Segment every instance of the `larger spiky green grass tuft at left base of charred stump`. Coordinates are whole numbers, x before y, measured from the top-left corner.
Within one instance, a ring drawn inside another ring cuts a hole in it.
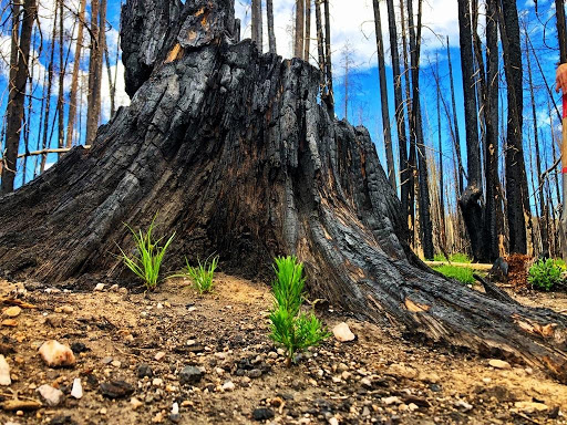
[[[128,225],[124,224],[126,228],[132,232],[134,237],[134,241],[136,245],[135,255],[130,257],[127,256],[122,248],[118,247],[122,253],[122,260],[124,265],[134,272],[142,281],[144,286],[148,290],[155,289],[157,286],[157,281],[159,278],[159,268],[162,266],[162,261],[165,256],[165,251],[172,243],[175,232],[167,239],[163,247],[159,246],[159,242],[163,240],[163,237],[154,240],[152,232],[154,230],[155,217],[150,225],[150,228],[144,234],[142,230],[137,232],[132,229]]]

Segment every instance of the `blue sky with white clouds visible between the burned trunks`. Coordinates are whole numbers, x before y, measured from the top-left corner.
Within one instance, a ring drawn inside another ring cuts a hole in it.
[[[65,0],[70,8],[78,8],[78,0]],[[6,6],[7,0],[1,0],[2,7]],[[52,28],[52,15],[51,10],[54,0],[41,0],[40,1],[40,21],[41,28],[44,38],[44,44],[47,44],[45,40],[49,39],[49,34]],[[522,10],[523,20],[528,22],[529,33],[532,37],[532,41],[535,44],[537,54],[542,61],[542,65],[544,68],[544,73],[549,83],[553,83],[554,80],[554,70],[555,62],[558,60],[557,53],[557,40],[555,40],[555,20],[550,19],[554,13],[553,10],[553,1],[551,0],[539,0],[539,17],[536,17],[534,11],[534,4],[532,0],[528,1],[518,1],[518,8]],[[385,4],[381,2],[382,6],[382,28],[384,30],[384,41],[386,44],[386,75],[389,87],[392,87],[392,72],[390,64],[390,50],[388,43],[388,24],[386,24],[386,13],[385,13]],[[118,81],[117,81],[117,104],[118,105],[127,105],[128,99],[124,93],[123,89],[123,66],[122,63],[115,62],[116,54],[116,42],[117,42],[117,31],[120,28],[120,7],[121,2],[116,0],[109,0],[109,25],[107,30],[107,39],[109,39],[109,50],[111,54],[111,71],[112,75],[117,71]],[[292,7],[293,0],[280,0],[275,4],[275,18],[276,18],[276,35],[278,41],[278,53],[284,55],[285,58],[290,56],[290,23],[292,17]],[[241,19],[243,22],[243,37],[249,37],[249,0],[236,0],[236,14]],[[4,13],[6,14],[6,13]],[[6,21],[7,15],[2,17],[2,21]],[[372,1],[371,0],[352,0],[349,2],[331,0],[331,29],[332,29],[332,43],[333,43],[333,65],[334,65],[334,87],[336,87],[336,100],[337,100],[337,115],[339,117],[343,117],[343,71],[342,71],[342,51],[344,45],[349,43],[352,46],[352,55],[354,69],[350,75],[350,81],[352,86],[350,89],[350,103],[349,103],[349,121],[353,124],[363,124],[367,126],[372,135],[374,143],[377,144],[377,148],[379,155],[383,162],[383,139],[382,139],[382,123],[381,123],[381,112],[380,112],[380,94],[379,94],[379,79],[378,79],[378,69],[377,69],[377,56],[375,56],[375,38],[373,32],[373,14],[372,14]],[[315,22],[315,19],[312,20]],[[481,18],[482,21],[482,18]],[[65,31],[68,35],[71,35],[74,31],[76,34],[76,29],[73,28],[73,19],[72,17],[68,17],[65,19]],[[432,68],[429,63],[435,62],[435,55],[439,55],[439,70],[442,81],[442,90],[446,100],[449,99],[449,69],[446,61],[446,51],[444,45],[445,37],[449,35],[451,38],[451,54],[453,59],[453,69],[454,69],[454,77],[455,77],[455,89],[456,89],[456,104],[458,110],[458,122],[461,125],[461,143],[464,145],[464,116],[462,113],[463,105],[463,95],[462,95],[462,83],[461,83],[461,66],[460,66],[460,52],[456,45],[458,38],[458,28],[457,28],[457,15],[456,15],[456,1],[455,0],[430,0],[424,2],[424,15],[423,15],[423,53],[422,53],[422,70],[421,70],[421,87],[422,87],[422,105],[423,108],[423,120],[424,120],[424,129],[425,129],[425,138],[426,143],[432,146],[432,144],[437,143],[437,128],[436,128],[436,87],[434,85],[434,81],[432,79]],[[482,23],[482,22],[481,22]],[[315,27],[315,23],[313,23]],[[3,37],[0,40],[0,52],[3,56],[3,62],[7,60],[7,55],[9,54],[9,37],[7,37],[7,31],[9,30],[9,24],[3,28]],[[315,28],[313,28],[315,33]],[[481,29],[481,31],[483,31]],[[481,37],[483,34],[481,33]],[[39,40],[39,39],[38,39]],[[265,38],[267,40],[267,37]],[[85,39],[85,44],[87,40]],[[39,46],[39,41],[35,43]],[[312,52],[316,52],[315,41],[312,44]],[[86,52],[86,51],[85,51]],[[34,72],[35,75],[39,75],[39,81],[42,81],[42,73],[44,72],[45,65],[48,63],[49,58],[49,49],[44,48],[39,55]],[[70,62],[72,62],[73,53],[70,52]],[[56,52],[55,52],[56,60]],[[315,61],[313,61],[315,62]],[[534,62],[534,61],[533,61]],[[68,69],[71,65],[68,65]],[[115,69],[117,66],[117,69]],[[82,62],[82,70],[84,75],[86,74],[86,61]],[[534,63],[535,68],[535,63]],[[1,107],[6,108],[7,101],[7,69],[6,65],[2,65],[2,70],[0,70],[0,93],[2,93],[1,97]],[[540,131],[546,138],[544,144],[547,144],[547,152],[545,155],[550,162],[550,125],[547,112],[547,101],[549,96],[544,89],[542,75],[537,70],[534,70],[534,80],[536,82],[536,93],[537,93],[537,111],[538,111],[538,125]],[[103,72],[103,116],[102,122],[109,120],[109,108],[110,101],[107,96],[109,90],[109,81],[106,77],[106,70]],[[527,75],[527,74],[526,74]],[[502,77],[503,90],[504,90],[504,77]],[[68,87],[70,84],[66,84]],[[527,86],[527,85],[526,85]],[[56,103],[56,86],[54,90],[54,96],[51,99],[52,102],[52,112],[55,108]],[[35,89],[35,96],[38,99],[42,95],[42,86],[39,85]],[[68,95],[68,93],[65,92]],[[532,116],[530,110],[527,107],[528,102],[528,92],[524,93],[525,95],[525,145],[526,151],[529,149],[530,144],[530,133],[532,131]],[[555,96],[558,101],[559,96]],[[85,97],[84,97],[85,100]],[[390,90],[390,116],[393,124],[393,93]],[[505,104],[503,105],[505,107]],[[41,103],[39,101],[34,101],[32,105],[32,116],[31,116],[31,137],[30,137],[30,151],[34,151],[38,142],[37,133],[39,127],[39,111],[41,108]],[[66,110],[65,110],[66,111]],[[82,108],[82,113],[84,115],[85,107]],[[501,113],[505,113],[503,108]],[[53,120],[53,115],[52,118]],[[65,112],[66,120],[66,112]],[[84,116],[83,116],[84,121]],[[554,126],[557,127],[557,122],[553,123]],[[392,125],[393,128],[395,126]],[[395,131],[394,131],[394,146],[396,145],[395,141]],[[446,118],[444,113],[442,114],[442,142],[443,148],[446,153],[447,164],[445,168],[450,168],[450,160],[452,160],[451,146],[452,142],[450,138],[450,133],[447,129]],[[56,134],[53,135],[51,141],[51,146],[54,147],[56,144]],[[436,147],[435,147],[436,148]],[[23,152],[23,146],[22,149]],[[430,149],[430,152],[434,153],[435,151]],[[464,148],[463,148],[464,152]],[[529,158],[526,155],[526,160]],[[32,159],[33,160],[33,159]],[[56,160],[55,155],[50,155],[49,163]],[[545,165],[545,162],[544,162]],[[28,169],[27,179],[29,180],[33,175],[31,169]],[[450,176],[447,176],[447,179]],[[21,183],[21,177],[19,178]],[[450,183],[450,182],[447,182]]]

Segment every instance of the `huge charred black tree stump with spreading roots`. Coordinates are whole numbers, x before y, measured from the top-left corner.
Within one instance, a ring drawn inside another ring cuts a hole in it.
[[[117,276],[115,243],[132,246],[122,222],[145,227],[158,211],[156,231],[177,232],[172,268],[216,251],[226,271],[257,274],[274,256],[296,253],[309,290],[359,317],[522,357],[567,381],[567,319],[489,298],[421,263],[402,242],[400,203],[368,132],[318,105],[316,68],[235,42],[233,7],[126,2],[132,104],[90,151],[75,147],[1,198],[1,267],[50,282]]]

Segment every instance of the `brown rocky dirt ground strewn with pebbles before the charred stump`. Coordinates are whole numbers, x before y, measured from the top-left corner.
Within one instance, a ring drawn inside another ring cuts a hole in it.
[[[287,369],[267,338],[261,282],[219,276],[205,297],[183,280],[146,296],[94,286],[0,281],[0,383],[7,367],[11,381],[0,386],[2,424],[567,423],[567,386],[539,371],[327,309],[329,328],[347,322],[357,339],[331,338]],[[523,301],[567,308],[561,294]],[[48,366],[39,349],[50,340],[74,364]]]

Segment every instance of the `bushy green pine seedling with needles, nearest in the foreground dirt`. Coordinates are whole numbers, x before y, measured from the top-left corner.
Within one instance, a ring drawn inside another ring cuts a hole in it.
[[[274,309],[269,317],[270,338],[286,349],[286,364],[290,366],[296,352],[318,345],[329,338],[330,333],[313,313],[300,312],[305,300],[303,265],[298,262],[296,257],[279,257],[275,261]]]

